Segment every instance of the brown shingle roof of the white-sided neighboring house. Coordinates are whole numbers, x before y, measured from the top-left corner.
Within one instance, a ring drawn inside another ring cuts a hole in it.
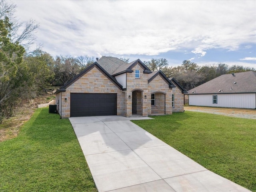
[[[256,93],[256,72],[221,75],[188,91],[188,94],[228,93]]]

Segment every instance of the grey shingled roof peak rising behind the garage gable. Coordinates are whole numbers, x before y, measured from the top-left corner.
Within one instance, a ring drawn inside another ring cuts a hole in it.
[[[102,56],[97,63],[106,70],[110,75],[114,73],[114,71],[120,66],[120,65],[126,65],[127,63],[116,58],[116,57],[106,57]]]

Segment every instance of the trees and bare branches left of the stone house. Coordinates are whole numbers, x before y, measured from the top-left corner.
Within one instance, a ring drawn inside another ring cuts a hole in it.
[[[14,3],[0,0],[0,123],[21,101],[46,92],[51,84],[65,84],[94,62],[89,56],[53,58],[42,45],[31,51],[39,25],[32,19],[20,22],[15,9]]]

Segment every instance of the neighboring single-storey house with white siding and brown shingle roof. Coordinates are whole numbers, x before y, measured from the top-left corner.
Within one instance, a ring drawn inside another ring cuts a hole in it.
[[[225,74],[188,91],[189,105],[256,108],[256,72]]]

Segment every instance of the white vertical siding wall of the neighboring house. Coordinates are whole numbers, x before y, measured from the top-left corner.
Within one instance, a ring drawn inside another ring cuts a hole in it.
[[[212,96],[217,95],[217,104],[212,103]],[[195,106],[256,108],[256,94],[198,94],[189,95],[189,104]]]

